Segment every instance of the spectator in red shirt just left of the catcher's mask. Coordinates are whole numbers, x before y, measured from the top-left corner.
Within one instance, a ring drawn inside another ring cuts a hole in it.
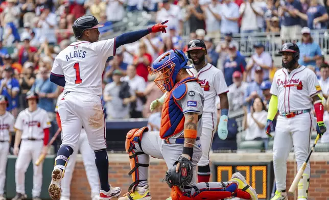
[[[147,82],[149,75],[148,66],[152,63],[152,56],[147,52],[147,46],[144,42],[139,44],[138,54],[134,56],[133,64],[136,66],[137,75],[143,77]]]

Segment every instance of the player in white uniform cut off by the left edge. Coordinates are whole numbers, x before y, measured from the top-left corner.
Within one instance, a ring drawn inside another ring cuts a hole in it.
[[[6,181],[7,156],[9,153],[11,133],[14,132],[15,118],[6,111],[8,99],[0,95],[0,200],[5,200],[4,187]]]

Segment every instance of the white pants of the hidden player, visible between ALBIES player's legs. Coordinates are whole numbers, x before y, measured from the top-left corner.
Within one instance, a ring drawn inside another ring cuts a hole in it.
[[[74,167],[76,165],[78,151],[80,151],[82,155],[83,164],[87,174],[87,180],[91,188],[91,198],[92,198],[93,195],[99,194],[100,184],[99,184],[98,171],[95,164],[95,153],[91,150],[88,144],[87,134],[84,129],[81,130],[78,144],[74,148],[73,154],[69,157],[69,162],[67,163],[67,166],[65,168],[65,176],[62,179],[61,196],[66,198],[70,197],[70,183],[72,180]]]

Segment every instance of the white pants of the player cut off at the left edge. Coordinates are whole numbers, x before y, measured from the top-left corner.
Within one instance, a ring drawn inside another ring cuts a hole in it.
[[[9,142],[0,142],[0,195],[4,194]]]

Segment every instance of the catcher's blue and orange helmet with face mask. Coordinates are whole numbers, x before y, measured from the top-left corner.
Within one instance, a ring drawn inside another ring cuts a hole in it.
[[[159,76],[154,80],[155,84],[162,92],[170,91],[176,82],[178,71],[181,68],[192,68],[186,66],[189,61],[181,50],[172,50],[163,53],[153,62],[153,68],[148,67],[149,73],[152,76],[159,73]]]

